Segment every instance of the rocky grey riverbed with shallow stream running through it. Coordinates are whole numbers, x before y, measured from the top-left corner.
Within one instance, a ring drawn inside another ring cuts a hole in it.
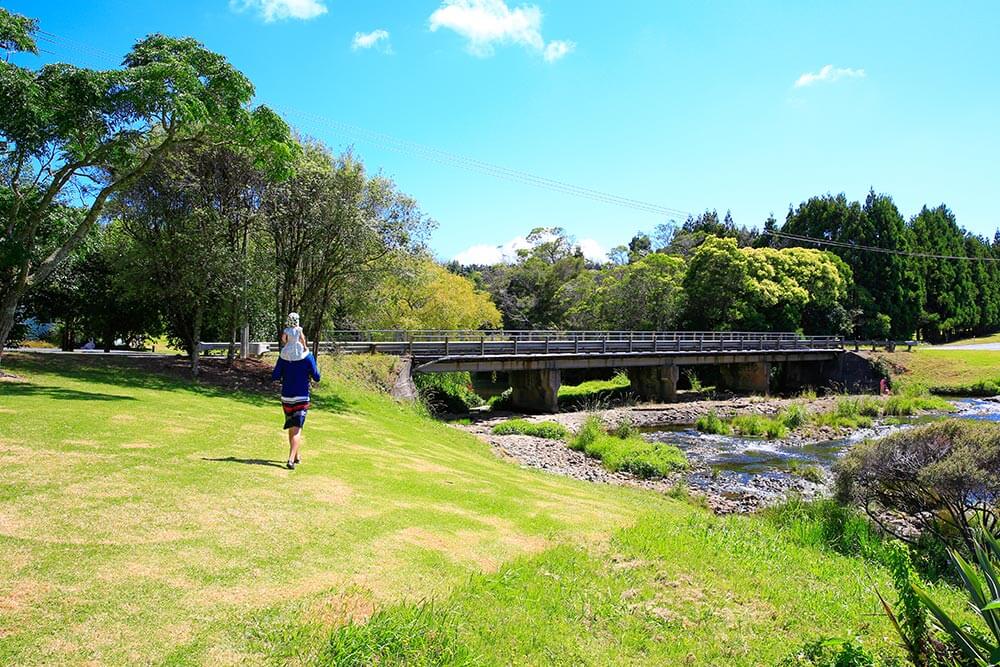
[[[612,473],[596,459],[571,450],[564,442],[524,435],[494,435],[493,426],[514,416],[511,414],[474,416],[470,424],[460,428],[488,442],[498,455],[524,466],[589,482],[635,486],[662,493],[684,486],[689,492],[703,497],[717,513],[741,513],[755,511],[790,496],[811,498],[829,493],[830,470],[845,449],[865,438],[880,437],[907,427],[906,423],[876,424],[873,428],[846,431],[811,426],[781,440],[705,435],[690,427],[699,416],[710,411],[723,418],[736,414],[772,416],[789,404],[803,400],[738,397],[528,417],[534,421],[555,421],[571,430],[578,429],[591,414],[597,414],[608,427],[631,422],[644,431],[647,439],[677,445],[688,457],[691,466],[688,471],[657,480]],[[812,399],[808,407],[813,412],[826,411],[835,407],[836,400],[836,397]],[[1000,420],[1000,402],[996,399],[961,399],[955,405],[956,416]]]

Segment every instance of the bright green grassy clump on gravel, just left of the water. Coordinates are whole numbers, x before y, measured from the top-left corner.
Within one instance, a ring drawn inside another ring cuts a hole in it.
[[[687,458],[677,447],[647,442],[637,435],[616,437],[604,431],[597,417],[587,418],[570,447],[600,459],[612,472],[627,472],[642,479],[664,477],[687,467]]]

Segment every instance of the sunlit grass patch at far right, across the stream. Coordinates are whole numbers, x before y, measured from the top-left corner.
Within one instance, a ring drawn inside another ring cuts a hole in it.
[[[935,391],[956,394],[984,382],[1000,383],[1000,352],[916,348],[913,352],[881,353],[893,366],[905,369],[899,377]]]

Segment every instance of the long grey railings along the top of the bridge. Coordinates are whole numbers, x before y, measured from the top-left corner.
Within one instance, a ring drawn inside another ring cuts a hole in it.
[[[837,336],[759,331],[331,331],[323,351],[417,357],[840,350]]]

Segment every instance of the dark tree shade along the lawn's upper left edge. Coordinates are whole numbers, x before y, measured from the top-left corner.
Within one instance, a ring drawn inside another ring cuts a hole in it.
[[[81,380],[84,382],[95,382],[109,384],[119,387],[129,387],[136,389],[154,389],[158,391],[185,391],[210,398],[228,398],[250,405],[263,407],[280,406],[280,387],[277,383],[266,382],[261,384],[259,377],[247,375],[246,380],[249,387],[225,387],[209,382],[196,381],[190,377],[190,371],[186,369],[186,362],[178,364],[175,359],[150,358],[136,359],[128,357],[98,357],[77,355],[43,355],[30,353],[6,353],[4,354],[4,366],[7,370],[15,371],[19,374],[30,373],[51,373],[62,377]],[[43,387],[32,382],[5,383],[4,393],[14,395],[15,391],[8,392],[9,387],[32,387],[36,395],[44,395],[42,389],[80,394],[79,398],[85,400],[88,397],[100,399],[107,396],[105,400],[119,398],[122,400],[135,400],[128,396],[114,396],[112,394],[89,394],[88,392],[77,392],[72,389],[59,389],[55,387]],[[313,401],[314,410],[324,412],[343,413],[348,412],[351,404],[336,394],[320,392],[318,400]],[[23,390],[22,395],[29,395],[29,390]],[[69,396],[65,396],[69,398]]]

